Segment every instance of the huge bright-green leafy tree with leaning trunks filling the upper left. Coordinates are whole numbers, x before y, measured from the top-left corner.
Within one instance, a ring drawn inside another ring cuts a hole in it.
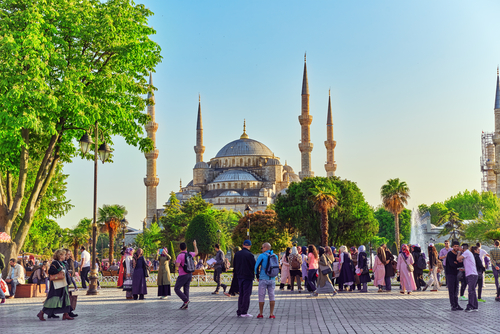
[[[0,232],[13,239],[0,244],[5,257],[17,256],[60,162],[96,122],[108,144],[121,136],[154,148],[143,129],[154,89],[146,77],[161,60],[151,15],[131,1],[0,2]]]

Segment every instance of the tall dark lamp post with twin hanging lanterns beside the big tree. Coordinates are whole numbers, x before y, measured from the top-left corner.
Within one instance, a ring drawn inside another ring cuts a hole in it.
[[[99,148],[97,145],[99,143],[99,124],[95,122],[95,143],[92,142],[92,139],[89,137],[87,133],[83,135],[80,139],[80,149],[83,154],[87,154],[94,144],[94,222],[92,224],[92,256],[90,259],[90,284],[89,289],[87,290],[87,295],[97,295],[97,268],[96,268],[96,236],[97,236],[97,155],[101,159],[102,163],[108,160],[109,155],[111,153],[111,149],[108,144],[103,140],[103,143]]]

